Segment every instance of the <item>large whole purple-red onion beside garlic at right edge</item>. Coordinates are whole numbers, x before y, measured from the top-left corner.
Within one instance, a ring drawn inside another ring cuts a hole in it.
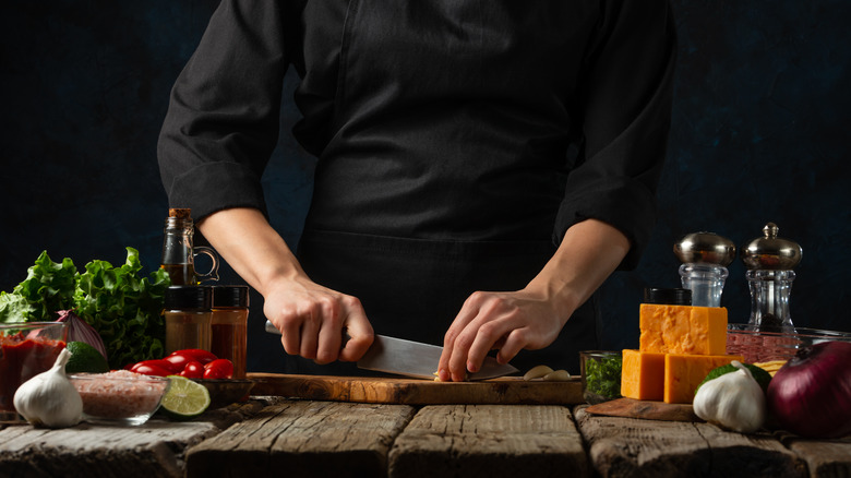
[[[781,428],[801,437],[851,433],[851,343],[799,350],[771,379],[767,403]]]

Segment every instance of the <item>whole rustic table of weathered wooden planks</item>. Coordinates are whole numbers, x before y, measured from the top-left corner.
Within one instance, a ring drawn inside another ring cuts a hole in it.
[[[586,406],[252,397],[194,421],[0,430],[0,477],[849,477],[851,438],[740,434]]]

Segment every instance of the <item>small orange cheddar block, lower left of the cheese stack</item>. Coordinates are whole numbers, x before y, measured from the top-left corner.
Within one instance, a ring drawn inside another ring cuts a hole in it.
[[[661,402],[664,395],[664,354],[625,349],[622,357],[621,395]]]

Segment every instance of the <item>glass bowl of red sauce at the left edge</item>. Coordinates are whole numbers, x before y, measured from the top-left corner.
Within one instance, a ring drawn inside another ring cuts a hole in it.
[[[26,423],[15,410],[15,392],[53,367],[67,338],[64,322],[0,324],[0,423]]]

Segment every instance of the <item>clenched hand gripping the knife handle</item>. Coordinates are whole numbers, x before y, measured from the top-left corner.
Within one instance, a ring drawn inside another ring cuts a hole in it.
[[[356,361],[373,340],[372,325],[357,297],[320,286],[305,277],[268,288],[263,312],[280,331],[290,355],[316,363]],[[343,345],[343,330],[350,337]]]

